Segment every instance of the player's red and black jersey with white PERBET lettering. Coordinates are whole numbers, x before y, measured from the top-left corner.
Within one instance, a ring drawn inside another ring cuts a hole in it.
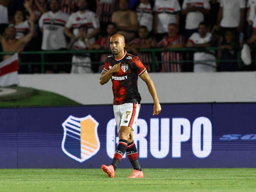
[[[114,94],[113,105],[140,103],[141,95],[138,91],[138,76],[142,75],[146,71],[146,68],[137,56],[131,55],[125,50],[123,57],[118,60],[115,59],[113,54],[108,55],[104,70],[108,71],[120,62],[120,71],[113,73],[111,76]]]

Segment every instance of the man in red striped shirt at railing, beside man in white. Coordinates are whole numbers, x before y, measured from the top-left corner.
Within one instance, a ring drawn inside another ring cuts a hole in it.
[[[178,25],[172,23],[168,25],[168,36],[164,37],[158,43],[158,47],[165,49],[181,48],[184,46],[184,37],[178,35]],[[182,54],[176,51],[163,51],[161,52],[161,72],[181,72],[181,64],[177,63],[182,60]]]

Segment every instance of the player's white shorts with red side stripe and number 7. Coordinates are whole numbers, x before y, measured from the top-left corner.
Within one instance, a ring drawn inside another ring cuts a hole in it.
[[[120,126],[131,127],[134,131],[135,123],[139,116],[141,104],[136,103],[125,103],[122,105],[113,105],[115,122],[117,129]]]

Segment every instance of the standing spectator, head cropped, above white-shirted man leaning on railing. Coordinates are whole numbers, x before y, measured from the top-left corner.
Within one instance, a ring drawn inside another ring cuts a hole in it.
[[[195,32],[199,23],[204,21],[204,14],[210,13],[209,0],[184,0],[182,4],[183,15],[186,15],[185,41]]]

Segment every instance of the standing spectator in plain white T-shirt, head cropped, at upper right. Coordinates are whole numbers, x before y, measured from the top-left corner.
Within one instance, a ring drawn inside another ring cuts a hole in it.
[[[245,13],[245,0],[221,0],[218,14],[218,26],[221,35],[225,31],[232,31],[238,37],[243,29]]]

